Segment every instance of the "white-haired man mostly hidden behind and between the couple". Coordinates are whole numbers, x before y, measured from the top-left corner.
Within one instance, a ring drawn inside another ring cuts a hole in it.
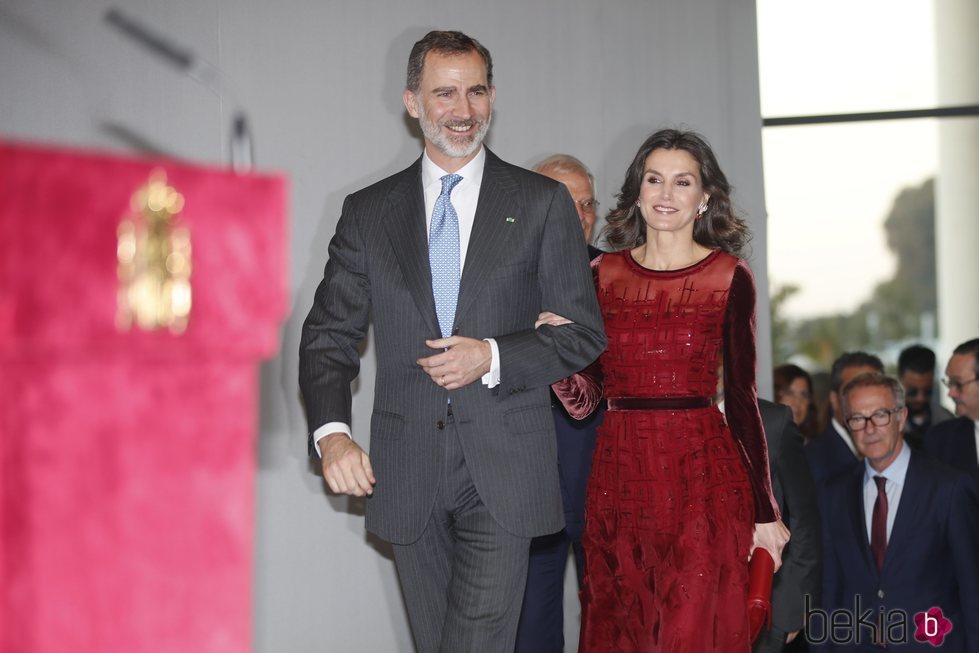
[[[601,250],[591,246],[598,212],[595,178],[584,163],[570,154],[553,154],[534,166],[534,171],[568,187],[578,210],[581,229],[594,259]],[[581,534],[585,524],[585,486],[591,472],[591,456],[598,427],[605,414],[599,407],[583,420],[572,419],[561,402],[552,402],[557,431],[558,471],[565,526],[557,533],[535,537],[530,545],[530,566],[524,591],[515,653],[561,653],[564,650],[564,571],[568,551],[574,551],[578,589],[584,577]]]

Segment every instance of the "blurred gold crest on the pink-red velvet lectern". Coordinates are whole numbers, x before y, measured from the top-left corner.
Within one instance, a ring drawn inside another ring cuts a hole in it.
[[[116,326],[180,334],[190,318],[190,231],[179,224],[184,197],[156,169],[119,223]]]

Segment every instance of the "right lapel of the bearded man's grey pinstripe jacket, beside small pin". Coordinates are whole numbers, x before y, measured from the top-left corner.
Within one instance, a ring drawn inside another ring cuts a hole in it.
[[[479,202],[459,284],[456,323],[472,307],[486,275],[504,259],[510,235],[522,225],[518,189],[503,162],[487,149]]]

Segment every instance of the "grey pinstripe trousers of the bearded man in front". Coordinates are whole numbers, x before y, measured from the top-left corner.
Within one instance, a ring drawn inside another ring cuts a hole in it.
[[[512,653],[530,539],[483,505],[455,422],[446,422],[439,489],[421,538],[394,545],[418,653]]]

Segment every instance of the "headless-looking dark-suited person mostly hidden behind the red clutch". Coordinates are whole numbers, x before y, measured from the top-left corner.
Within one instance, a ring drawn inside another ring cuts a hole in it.
[[[822,535],[816,486],[809,473],[802,433],[792,410],[758,400],[765,437],[772,494],[792,539],[782,552],[782,567],[772,583],[772,627],[755,640],[755,653],[780,653],[805,625],[805,599],[819,603],[822,586]]]

